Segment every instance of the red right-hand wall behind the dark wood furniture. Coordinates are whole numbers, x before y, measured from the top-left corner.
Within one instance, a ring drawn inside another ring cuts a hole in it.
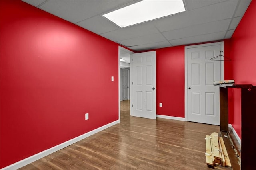
[[[236,83],[256,85],[256,0],[252,0],[230,39],[230,56],[232,57],[232,76]],[[229,107],[230,123],[241,138],[240,89],[229,91],[232,95]],[[255,114],[255,110],[252,111]]]

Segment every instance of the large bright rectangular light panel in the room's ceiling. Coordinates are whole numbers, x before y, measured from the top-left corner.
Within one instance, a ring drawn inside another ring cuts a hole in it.
[[[103,16],[123,28],[183,11],[182,0],[142,0]]]

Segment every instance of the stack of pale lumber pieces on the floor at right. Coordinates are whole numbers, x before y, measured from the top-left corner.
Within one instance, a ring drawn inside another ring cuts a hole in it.
[[[218,137],[217,132],[205,135],[206,143],[206,164],[209,166],[228,166],[231,167],[228,153],[222,137]]]

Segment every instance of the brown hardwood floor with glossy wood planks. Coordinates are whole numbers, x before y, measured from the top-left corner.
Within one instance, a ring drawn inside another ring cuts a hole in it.
[[[219,126],[130,116],[121,102],[121,123],[37,160],[20,170],[208,170],[205,135]],[[215,166],[215,169],[232,168]]]

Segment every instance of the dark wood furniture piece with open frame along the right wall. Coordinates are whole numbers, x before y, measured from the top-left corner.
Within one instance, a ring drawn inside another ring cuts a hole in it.
[[[252,84],[214,84],[220,87],[220,131],[223,136],[233,170],[240,169],[238,150],[228,135],[228,88],[241,89],[241,169],[254,169],[256,152],[256,86]]]

